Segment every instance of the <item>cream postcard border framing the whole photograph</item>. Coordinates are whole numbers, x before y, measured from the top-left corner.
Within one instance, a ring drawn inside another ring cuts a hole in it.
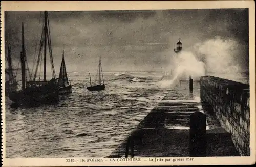
[[[255,4],[254,1],[24,1],[1,2],[1,72],[4,74],[4,12],[5,11],[95,11],[95,10],[157,10],[157,9],[213,9],[213,8],[249,8],[249,70],[250,70],[250,157],[200,157],[193,161],[149,162],[148,158],[141,158],[141,162],[111,162],[112,158],[97,158],[103,162],[77,162],[81,158],[75,158],[75,163],[66,162],[66,158],[3,158],[5,157],[5,100],[2,98],[2,164],[3,166],[116,166],[116,165],[203,165],[203,164],[254,164],[255,155]],[[5,83],[4,75],[1,75]],[[1,84],[5,90],[5,84]],[[5,91],[2,91],[5,97]],[[73,158],[73,157],[72,157]],[[169,157],[168,157],[169,158]],[[172,157],[170,157],[172,158]],[[180,157],[186,159],[186,157]],[[189,157],[187,157],[189,158]],[[147,161],[144,161],[144,160]],[[163,158],[165,159],[165,158]],[[174,158],[172,158],[174,159]]]

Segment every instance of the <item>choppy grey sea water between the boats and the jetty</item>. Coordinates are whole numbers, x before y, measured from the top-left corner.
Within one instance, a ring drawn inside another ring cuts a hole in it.
[[[107,85],[100,92],[86,89],[88,73],[69,78],[72,94],[57,104],[15,110],[6,100],[7,158],[108,156],[169,91],[176,102],[181,91],[160,88],[161,73],[104,73]]]

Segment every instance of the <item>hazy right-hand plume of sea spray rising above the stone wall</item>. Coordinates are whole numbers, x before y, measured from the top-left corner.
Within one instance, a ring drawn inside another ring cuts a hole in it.
[[[237,80],[241,67],[236,58],[243,50],[234,39],[224,39],[220,36],[196,43],[195,54],[205,63],[207,74]]]

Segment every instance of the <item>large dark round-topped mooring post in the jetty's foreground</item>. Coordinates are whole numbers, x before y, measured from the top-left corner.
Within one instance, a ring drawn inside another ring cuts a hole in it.
[[[189,155],[190,157],[206,156],[206,116],[201,112],[190,115]]]

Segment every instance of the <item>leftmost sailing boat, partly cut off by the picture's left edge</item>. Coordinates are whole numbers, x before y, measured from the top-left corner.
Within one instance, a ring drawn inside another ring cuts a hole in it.
[[[17,82],[12,70],[12,60],[11,60],[11,47],[8,46],[8,69],[5,69],[5,95],[8,96],[9,92],[15,92],[17,90]]]

